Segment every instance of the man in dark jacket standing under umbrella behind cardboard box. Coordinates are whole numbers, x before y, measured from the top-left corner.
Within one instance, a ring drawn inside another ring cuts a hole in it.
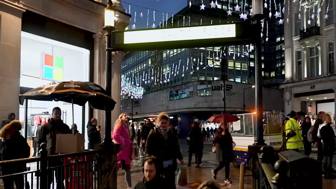
[[[52,109],[52,118],[48,120],[48,123],[44,123],[40,129],[37,130],[37,145],[40,146],[42,143],[47,144],[47,155],[56,154],[56,135],[57,134],[72,134],[70,127],[61,120],[62,111],[59,107]],[[52,160],[48,162],[49,167],[58,167],[50,169],[48,172],[48,189],[53,183],[53,171],[55,171],[55,178],[57,189],[64,189],[64,168],[60,167],[63,165],[61,160]]]

